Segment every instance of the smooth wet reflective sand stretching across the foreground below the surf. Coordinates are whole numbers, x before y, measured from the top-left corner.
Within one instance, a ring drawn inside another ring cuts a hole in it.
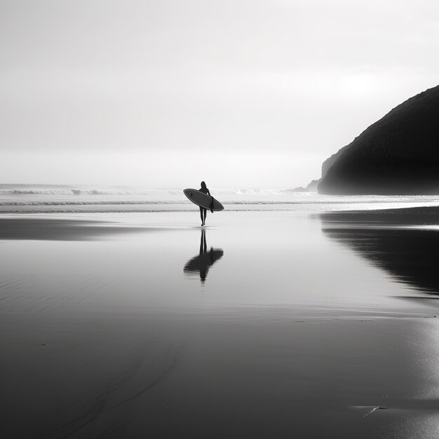
[[[1,436],[438,436],[431,212],[1,218]]]

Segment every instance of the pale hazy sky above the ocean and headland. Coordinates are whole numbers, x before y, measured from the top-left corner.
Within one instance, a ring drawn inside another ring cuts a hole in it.
[[[306,184],[438,48],[437,0],[0,0],[0,180]]]

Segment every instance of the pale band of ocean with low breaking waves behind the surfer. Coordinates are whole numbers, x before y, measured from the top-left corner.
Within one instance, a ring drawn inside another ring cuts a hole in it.
[[[0,184],[2,213],[185,212],[183,187]],[[329,196],[291,189],[210,188],[225,210],[330,212],[439,205],[439,196]]]

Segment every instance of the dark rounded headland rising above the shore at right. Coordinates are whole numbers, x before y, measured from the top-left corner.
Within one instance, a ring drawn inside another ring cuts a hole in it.
[[[322,166],[320,194],[439,194],[439,86],[406,100]]]

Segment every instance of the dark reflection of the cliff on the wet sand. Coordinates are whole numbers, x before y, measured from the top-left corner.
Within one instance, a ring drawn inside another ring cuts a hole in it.
[[[323,233],[389,272],[397,281],[439,295],[437,208],[320,214]],[[430,226],[430,227],[428,227]]]

